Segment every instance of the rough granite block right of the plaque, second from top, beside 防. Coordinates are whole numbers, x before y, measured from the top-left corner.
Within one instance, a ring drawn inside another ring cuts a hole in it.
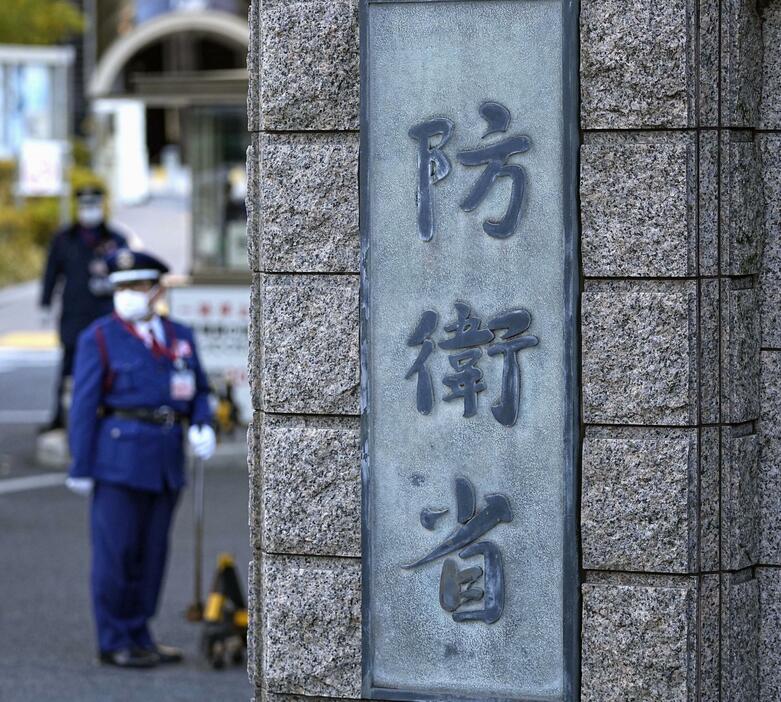
[[[695,142],[690,134],[590,134],[581,147],[583,273],[696,274]]]

